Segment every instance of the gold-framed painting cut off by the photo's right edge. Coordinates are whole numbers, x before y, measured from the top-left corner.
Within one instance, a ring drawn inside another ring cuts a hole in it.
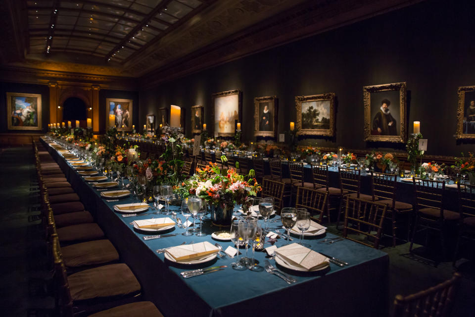
[[[475,139],[475,86],[461,86],[457,89],[456,139]]]

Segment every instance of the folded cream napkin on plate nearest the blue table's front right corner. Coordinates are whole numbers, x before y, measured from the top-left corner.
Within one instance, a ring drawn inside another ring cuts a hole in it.
[[[307,271],[324,268],[330,263],[328,258],[298,243],[280,247],[274,253],[288,264]]]

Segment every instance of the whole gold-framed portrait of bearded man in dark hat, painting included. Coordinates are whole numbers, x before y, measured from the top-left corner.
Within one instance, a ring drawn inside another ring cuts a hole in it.
[[[364,141],[406,142],[406,87],[406,82],[363,87]]]

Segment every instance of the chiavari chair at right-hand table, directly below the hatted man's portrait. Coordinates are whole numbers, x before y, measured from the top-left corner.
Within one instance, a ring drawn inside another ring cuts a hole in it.
[[[410,240],[410,217],[412,205],[396,200],[396,175],[371,172],[371,187],[373,198],[381,204],[388,204],[386,219],[391,221],[392,246],[396,246],[396,231],[399,223],[404,222],[407,226],[407,240]],[[402,219],[401,219],[402,218]]]

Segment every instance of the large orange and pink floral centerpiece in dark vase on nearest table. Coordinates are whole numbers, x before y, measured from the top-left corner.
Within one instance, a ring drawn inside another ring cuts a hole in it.
[[[248,175],[240,175],[235,168],[227,171],[209,162],[204,168],[196,168],[196,173],[182,182],[176,189],[183,198],[196,195],[206,201],[215,225],[231,225],[235,204],[242,205],[250,197],[261,191],[254,178],[254,170]]]

